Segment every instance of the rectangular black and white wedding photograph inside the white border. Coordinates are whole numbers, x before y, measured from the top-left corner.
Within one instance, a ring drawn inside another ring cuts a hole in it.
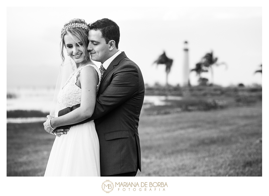
[[[7,7],[6,176],[262,178],[262,11]]]

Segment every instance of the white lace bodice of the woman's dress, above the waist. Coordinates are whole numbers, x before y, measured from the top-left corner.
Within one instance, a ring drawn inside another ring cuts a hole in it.
[[[99,75],[99,83],[96,88],[96,94],[98,93],[99,86],[101,83],[102,75],[97,66],[95,65],[86,65],[93,66]],[[84,66],[84,67],[86,67]],[[63,85],[62,89],[60,89],[57,101],[59,105],[63,108],[72,107],[81,102],[81,88],[76,85],[77,83],[77,75],[83,69],[80,68],[78,71],[74,71],[67,79],[65,85]]]

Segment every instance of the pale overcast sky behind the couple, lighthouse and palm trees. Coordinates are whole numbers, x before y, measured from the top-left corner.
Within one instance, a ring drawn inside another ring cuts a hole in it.
[[[59,73],[60,31],[73,18],[101,18],[120,27],[119,49],[140,67],[145,83],[165,83],[165,66],[152,65],[163,51],[172,58],[168,82],[183,81],[183,43],[189,42],[189,68],[213,50],[219,62],[214,83],[262,83],[254,74],[262,63],[261,7],[8,7],[7,87],[54,86]],[[29,25],[31,24],[31,25]],[[100,63],[96,63],[97,66]],[[203,77],[211,79],[210,73]],[[197,84],[193,72],[190,82]]]

